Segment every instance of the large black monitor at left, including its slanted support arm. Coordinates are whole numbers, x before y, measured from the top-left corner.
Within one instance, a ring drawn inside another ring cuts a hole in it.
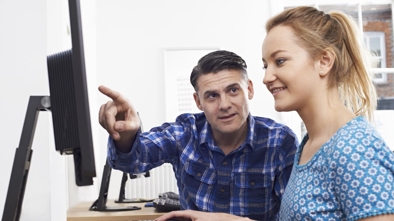
[[[50,97],[30,96],[2,221],[19,220],[40,111],[52,111],[56,150],[74,155],[76,185],[91,185],[96,176],[79,0],[69,0],[69,13],[72,49],[47,57]]]

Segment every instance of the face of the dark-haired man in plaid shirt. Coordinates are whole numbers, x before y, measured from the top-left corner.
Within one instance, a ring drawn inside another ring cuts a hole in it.
[[[203,110],[215,136],[231,135],[247,127],[248,99],[253,98],[253,83],[242,79],[239,70],[221,70],[197,79],[197,107]]]

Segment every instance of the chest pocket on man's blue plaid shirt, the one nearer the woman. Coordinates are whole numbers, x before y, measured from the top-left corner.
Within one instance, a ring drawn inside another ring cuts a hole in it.
[[[244,202],[259,204],[260,208],[268,206],[271,199],[271,174],[234,173],[235,185]]]

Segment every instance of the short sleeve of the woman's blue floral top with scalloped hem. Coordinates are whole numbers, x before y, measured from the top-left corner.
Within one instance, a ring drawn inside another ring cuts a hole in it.
[[[347,219],[392,211],[394,154],[375,127],[357,117],[333,140],[332,153],[326,156],[327,174]]]

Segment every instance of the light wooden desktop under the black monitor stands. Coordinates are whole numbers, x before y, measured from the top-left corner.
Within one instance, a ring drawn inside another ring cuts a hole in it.
[[[157,212],[156,208],[144,207],[146,203],[115,203],[108,200],[107,206],[139,206],[141,210],[118,211],[118,212],[99,212],[90,211],[93,202],[83,202],[69,208],[67,211],[67,221],[130,221],[130,220],[149,220],[165,214]]]

